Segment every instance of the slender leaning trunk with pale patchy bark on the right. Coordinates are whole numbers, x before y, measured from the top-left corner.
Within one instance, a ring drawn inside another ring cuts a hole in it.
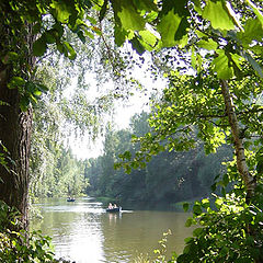
[[[228,121],[229,121],[232,137],[233,137],[233,145],[235,145],[236,157],[237,157],[237,168],[244,182],[244,185],[247,188],[247,203],[249,203],[250,199],[254,196],[256,180],[250,174],[249,168],[247,165],[243,139],[240,136],[240,127],[239,127],[235,105],[232,102],[231,94],[229,92],[227,81],[220,80],[220,84],[221,84],[222,96],[225,100],[226,112],[228,115]]]

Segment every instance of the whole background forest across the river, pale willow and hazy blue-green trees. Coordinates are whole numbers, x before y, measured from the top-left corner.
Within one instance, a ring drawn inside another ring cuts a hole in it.
[[[108,124],[103,155],[88,160],[78,160],[70,148],[66,150],[62,145],[56,146],[56,141],[48,137],[42,165],[34,167],[34,162],[31,162],[32,174],[35,176],[31,184],[32,197],[88,194],[112,198],[121,205],[159,205],[160,208],[176,202],[209,196],[216,175],[226,172],[222,162],[232,158],[228,146],[221,146],[217,152],[206,156],[199,141],[195,149],[188,151],[160,152],[145,168],[133,170],[130,174],[123,169],[114,169],[122,160],[119,156],[139,149],[139,145],[132,144],[132,137],[150,132],[148,117],[146,112],[134,115],[128,129],[114,130]]]

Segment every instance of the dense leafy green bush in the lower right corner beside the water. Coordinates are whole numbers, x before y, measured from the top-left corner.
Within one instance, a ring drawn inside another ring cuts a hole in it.
[[[198,225],[176,262],[254,262],[262,256],[262,192],[258,205],[247,205],[236,194],[215,195],[193,206],[193,218],[185,226]],[[214,208],[216,206],[216,209]],[[187,210],[188,205],[184,205]],[[247,226],[252,225],[253,236]],[[262,260],[262,259],[261,259]]]

